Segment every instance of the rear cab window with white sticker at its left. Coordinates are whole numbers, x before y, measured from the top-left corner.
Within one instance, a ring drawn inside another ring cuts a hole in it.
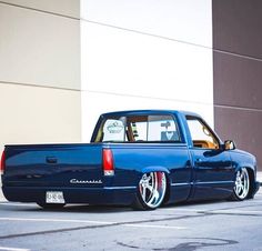
[[[181,138],[172,116],[130,116],[104,119],[95,142],[181,142]]]

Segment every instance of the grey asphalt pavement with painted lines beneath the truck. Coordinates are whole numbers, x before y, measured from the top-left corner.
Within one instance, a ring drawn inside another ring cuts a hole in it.
[[[262,191],[242,202],[210,201],[133,211],[127,207],[0,202],[0,250],[262,251]]]

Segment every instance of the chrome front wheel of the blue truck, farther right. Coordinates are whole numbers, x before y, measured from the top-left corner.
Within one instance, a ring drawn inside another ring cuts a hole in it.
[[[250,178],[246,168],[242,168],[236,172],[234,194],[239,200],[244,200],[250,191]]]

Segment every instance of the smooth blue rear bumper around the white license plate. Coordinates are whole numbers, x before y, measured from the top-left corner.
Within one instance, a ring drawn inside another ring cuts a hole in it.
[[[135,187],[108,188],[36,188],[2,187],[7,200],[16,202],[46,202],[47,191],[62,191],[66,203],[131,204],[137,195]]]

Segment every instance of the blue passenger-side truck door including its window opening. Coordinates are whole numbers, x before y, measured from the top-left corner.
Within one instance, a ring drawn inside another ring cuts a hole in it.
[[[229,152],[209,126],[198,117],[187,117],[192,138],[192,199],[226,198],[234,185],[234,169]]]

